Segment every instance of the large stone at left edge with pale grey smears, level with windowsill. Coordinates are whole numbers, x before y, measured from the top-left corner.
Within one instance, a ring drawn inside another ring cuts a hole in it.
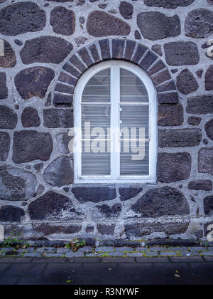
[[[25,201],[35,195],[37,179],[31,172],[9,165],[0,166],[0,199]]]

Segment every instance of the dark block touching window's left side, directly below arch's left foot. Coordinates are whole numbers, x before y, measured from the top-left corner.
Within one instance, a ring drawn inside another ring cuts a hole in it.
[[[73,114],[71,109],[45,109],[43,110],[43,118],[45,127],[73,127]]]

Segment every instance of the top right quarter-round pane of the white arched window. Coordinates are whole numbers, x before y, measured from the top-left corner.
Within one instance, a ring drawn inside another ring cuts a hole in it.
[[[141,79],[121,68],[121,103],[148,102],[148,92]]]

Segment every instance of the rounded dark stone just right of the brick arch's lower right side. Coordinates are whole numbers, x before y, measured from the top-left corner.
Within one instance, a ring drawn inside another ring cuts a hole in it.
[[[182,70],[178,75],[176,85],[183,95],[194,93],[199,88],[197,80],[187,68]]]

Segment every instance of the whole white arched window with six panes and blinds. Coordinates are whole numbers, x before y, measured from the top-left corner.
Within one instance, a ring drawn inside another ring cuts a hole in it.
[[[99,63],[75,89],[75,183],[156,182],[157,100],[137,65]]]

